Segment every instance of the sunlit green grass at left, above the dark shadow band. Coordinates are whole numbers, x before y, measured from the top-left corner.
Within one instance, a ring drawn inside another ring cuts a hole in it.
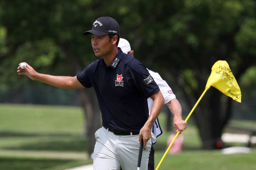
[[[84,121],[79,107],[1,104],[0,129],[27,135],[81,134]]]

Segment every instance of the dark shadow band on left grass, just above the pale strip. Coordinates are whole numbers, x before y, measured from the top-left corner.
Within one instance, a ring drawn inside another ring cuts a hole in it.
[[[9,150],[27,151],[63,151],[63,152],[85,152],[87,142],[84,137],[50,137],[43,141],[26,143],[15,147],[5,147]]]

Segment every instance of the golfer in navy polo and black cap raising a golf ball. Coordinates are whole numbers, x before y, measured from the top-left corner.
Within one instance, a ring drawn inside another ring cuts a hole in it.
[[[76,76],[40,74],[27,63],[24,69],[18,66],[17,72],[63,89],[94,87],[103,124],[95,132],[94,170],[137,169],[142,138],[145,149],[140,169],[147,170],[151,128],[164,103],[159,87],[142,63],[117,47],[120,32],[116,20],[100,17],[84,34],[91,35],[95,56],[101,58]],[[150,114],[149,97],[153,100]]]

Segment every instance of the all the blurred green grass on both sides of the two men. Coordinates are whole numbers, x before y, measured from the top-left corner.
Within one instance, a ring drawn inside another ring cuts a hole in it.
[[[82,135],[84,118],[79,107],[0,104],[0,110],[0,170],[63,170],[92,163],[86,155],[87,141]],[[159,119],[164,130],[165,115]],[[256,128],[255,121],[246,120],[233,120],[230,126]],[[234,132],[230,126],[226,131]],[[155,166],[165,152],[170,135],[171,132],[164,131],[154,145]],[[254,149],[251,153],[231,155],[200,150],[201,141],[193,119],[188,121],[182,135],[182,153],[167,154],[159,170],[256,169]]]

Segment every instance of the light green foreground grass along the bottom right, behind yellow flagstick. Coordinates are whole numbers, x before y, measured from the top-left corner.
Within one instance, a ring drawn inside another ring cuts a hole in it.
[[[155,167],[162,152],[155,152]],[[183,151],[181,154],[167,154],[159,170],[255,170],[256,152],[221,154],[221,151]]]

